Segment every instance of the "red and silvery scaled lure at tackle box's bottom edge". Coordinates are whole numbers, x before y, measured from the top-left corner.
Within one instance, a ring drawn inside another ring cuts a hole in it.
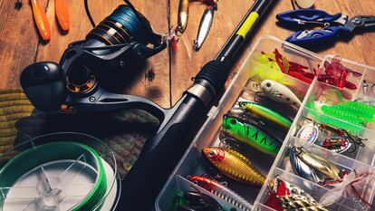
[[[277,211],[328,211],[301,187],[284,181],[280,176],[274,177],[274,181],[269,187],[271,187],[270,193],[264,205]]]

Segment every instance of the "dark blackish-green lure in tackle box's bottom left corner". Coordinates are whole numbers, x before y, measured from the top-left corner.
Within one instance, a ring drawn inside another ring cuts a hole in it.
[[[213,197],[194,191],[178,191],[175,197],[178,211],[222,211],[222,206]]]

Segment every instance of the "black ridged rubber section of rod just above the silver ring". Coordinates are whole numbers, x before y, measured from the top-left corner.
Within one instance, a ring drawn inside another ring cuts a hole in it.
[[[205,86],[215,94],[224,87],[228,74],[225,63],[214,60],[207,62],[197,73],[195,83]]]

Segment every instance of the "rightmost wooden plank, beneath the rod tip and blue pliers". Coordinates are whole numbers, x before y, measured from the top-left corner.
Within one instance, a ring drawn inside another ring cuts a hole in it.
[[[226,37],[235,29],[236,24],[245,14],[246,10],[253,1],[219,1],[218,11],[215,14],[214,24],[208,35],[206,43],[199,52],[192,49],[192,41],[195,39],[197,27],[200,21],[204,7],[199,5],[190,6],[190,15],[187,25],[187,31],[180,38],[178,43],[178,52],[172,57],[172,101],[178,101],[182,91],[185,91],[191,84],[190,78],[194,77],[201,66],[211,60],[225,43]],[[357,14],[374,14],[373,1],[363,0],[351,1],[332,1],[327,4],[326,1],[316,1],[316,8],[325,10],[328,13],[348,14],[350,17]],[[263,35],[274,35],[281,39],[293,34],[293,31],[281,28],[275,24],[275,15],[281,12],[291,10],[290,1],[277,1],[270,13],[264,17],[262,26],[256,31],[251,42],[247,43],[245,52],[240,56],[233,73],[236,73],[241,63],[245,60],[245,55],[254,46],[256,41]],[[172,22],[177,23],[178,0],[171,0],[171,17]],[[331,48],[321,50],[318,53],[338,54],[343,58],[355,62],[362,62],[374,66],[375,60],[371,57],[371,49],[375,46],[375,33],[367,32],[365,34],[356,34],[348,42],[339,41]],[[187,44],[185,44],[187,43]],[[233,78],[230,76],[230,78]]]

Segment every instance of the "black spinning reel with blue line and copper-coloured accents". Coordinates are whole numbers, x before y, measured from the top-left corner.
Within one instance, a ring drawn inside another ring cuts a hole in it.
[[[85,40],[69,44],[59,64],[36,62],[24,69],[21,84],[36,109],[64,113],[115,110],[120,103],[130,101],[124,95],[104,91],[101,79],[110,73],[130,72],[134,63],[159,53],[167,43],[126,2]]]

